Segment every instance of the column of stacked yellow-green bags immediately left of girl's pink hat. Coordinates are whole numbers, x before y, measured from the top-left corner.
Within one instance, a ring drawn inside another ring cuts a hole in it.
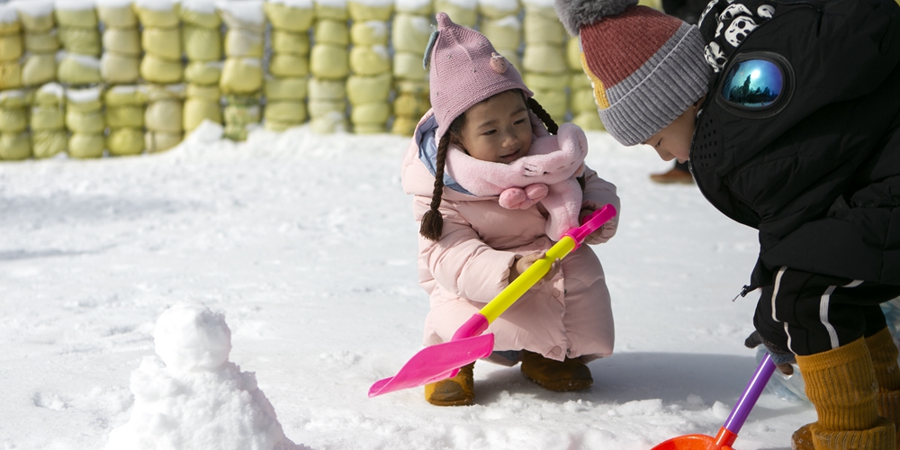
[[[431,108],[428,71],[422,57],[431,36],[430,0],[397,0],[392,23],[394,77],[393,134],[411,136]]]

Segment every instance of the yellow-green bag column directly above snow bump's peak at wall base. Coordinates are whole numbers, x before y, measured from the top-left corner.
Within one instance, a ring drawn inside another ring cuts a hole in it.
[[[221,17],[213,0],[183,0],[182,37],[187,68],[184,80],[184,131],[190,133],[202,121],[222,122]]]

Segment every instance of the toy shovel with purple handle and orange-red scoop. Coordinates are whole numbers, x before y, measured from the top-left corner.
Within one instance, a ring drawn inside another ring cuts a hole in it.
[[[747,383],[741,398],[734,405],[731,415],[725,420],[725,425],[719,428],[716,437],[707,435],[673,437],[651,450],[733,450],[734,439],[737,438],[743,422],[747,420],[756,401],[760,400],[760,394],[774,372],[775,364],[772,363],[772,358],[767,353],[766,357],[762,358],[760,366],[756,368],[756,373],[753,374],[750,383]]]

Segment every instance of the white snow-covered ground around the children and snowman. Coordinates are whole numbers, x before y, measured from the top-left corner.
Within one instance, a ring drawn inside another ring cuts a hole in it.
[[[130,418],[132,371],[160,313],[225,315],[229,360],[256,373],[285,435],[312,449],[644,450],[715,434],[754,367],[752,229],[694,186],[657,185],[649,148],[589,133],[619,186],[616,238],[594,247],[617,353],[587,392],[545,392],[518,367],[475,367],[472,407],[419,389],[368,399],[421,345],[428,300],[401,191],[407,139],[204,127],[155,156],[0,164],[0,445],[102,448]],[[764,394],[738,448],[787,449],[815,419]]]

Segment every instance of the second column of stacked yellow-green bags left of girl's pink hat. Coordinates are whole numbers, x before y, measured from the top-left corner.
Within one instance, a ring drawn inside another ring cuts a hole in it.
[[[383,133],[391,116],[392,64],[388,52],[393,0],[351,0],[347,100],[356,134]]]

